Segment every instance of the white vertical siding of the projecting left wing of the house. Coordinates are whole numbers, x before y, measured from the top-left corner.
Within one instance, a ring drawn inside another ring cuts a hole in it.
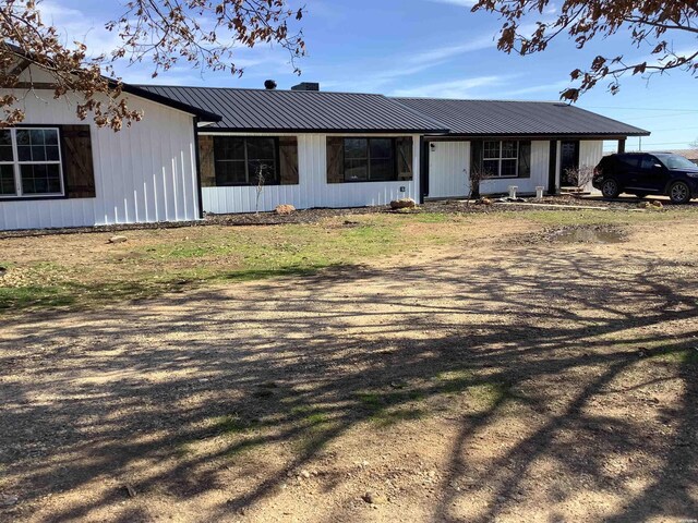
[[[0,95],[9,93],[0,89]],[[75,115],[75,101],[49,90],[19,102],[26,124],[89,124],[96,197],[0,198],[0,230],[109,226],[198,219],[193,117],[140,97],[144,118],[115,133]],[[21,124],[19,125],[21,126]]]

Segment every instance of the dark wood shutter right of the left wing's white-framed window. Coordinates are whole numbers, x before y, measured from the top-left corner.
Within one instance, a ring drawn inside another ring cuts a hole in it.
[[[95,166],[89,125],[62,125],[60,130],[65,195],[69,198],[94,198]]]

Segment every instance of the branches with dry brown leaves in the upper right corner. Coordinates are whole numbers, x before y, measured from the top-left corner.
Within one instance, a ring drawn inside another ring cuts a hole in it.
[[[609,88],[617,93],[625,74],[661,74],[682,70],[698,77],[698,36],[690,50],[675,51],[671,41],[678,35],[698,35],[698,2],[695,0],[565,0],[559,9],[552,0],[479,0],[472,11],[488,11],[503,20],[497,48],[504,52],[532,54],[544,51],[551,41],[567,34],[577,48],[594,38],[605,38],[628,29],[630,44],[637,49],[649,46],[651,60],[624,62],[624,57],[597,57],[586,69],[571,71],[579,87],[561,93],[561,98],[576,101],[600,81],[611,78]],[[529,16],[540,19],[554,12],[550,23],[537,22],[532,35],[521,33]]]

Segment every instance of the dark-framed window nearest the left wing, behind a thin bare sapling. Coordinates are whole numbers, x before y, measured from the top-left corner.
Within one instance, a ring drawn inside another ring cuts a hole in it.
[[[274,137],[214,137],[217,186],[277,185],[278,143]]]

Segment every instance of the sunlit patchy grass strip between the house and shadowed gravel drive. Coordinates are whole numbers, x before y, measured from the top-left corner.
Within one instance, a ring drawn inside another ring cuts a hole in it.
[[[7,262],[1,265],[9,270],[0,279],[0,315],[148,299],[221,281],[311,276],[460,239],[459,228],[442,224],[493,219],[524,219],[547,226],[642,223],[674,216],[676,212],[602,210],[417,212],[357,216],[350,222],[338,217],[314,224],[141,230],[128,231],[128,242],[108,248],[103,247],[101,235],[81,235],[81,243],[73,246],[81,252],[77,259],[67,256],[71,254],[68,248],[61,252],[63,244],[56,236],[34,240],[37,253],[44,245],[51,245],[34,260],[27,259],[26,247],[13,251],[13,240],[8,240],[3,252]]]

